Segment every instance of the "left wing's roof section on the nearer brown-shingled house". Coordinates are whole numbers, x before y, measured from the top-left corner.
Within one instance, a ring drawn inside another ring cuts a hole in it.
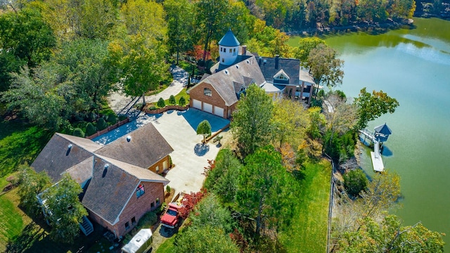
[[[39,153],[31,167],[38,173],[46,171],[53,182],[60,181],[66,171],[70,175],[75,175],[75,180],[82,180],[86,178],[86,175],[91,174],[92,166],[89,166],[89,160],[93,160],[92,151],[99,148],[101,145],[89,139],[56,133]]]

